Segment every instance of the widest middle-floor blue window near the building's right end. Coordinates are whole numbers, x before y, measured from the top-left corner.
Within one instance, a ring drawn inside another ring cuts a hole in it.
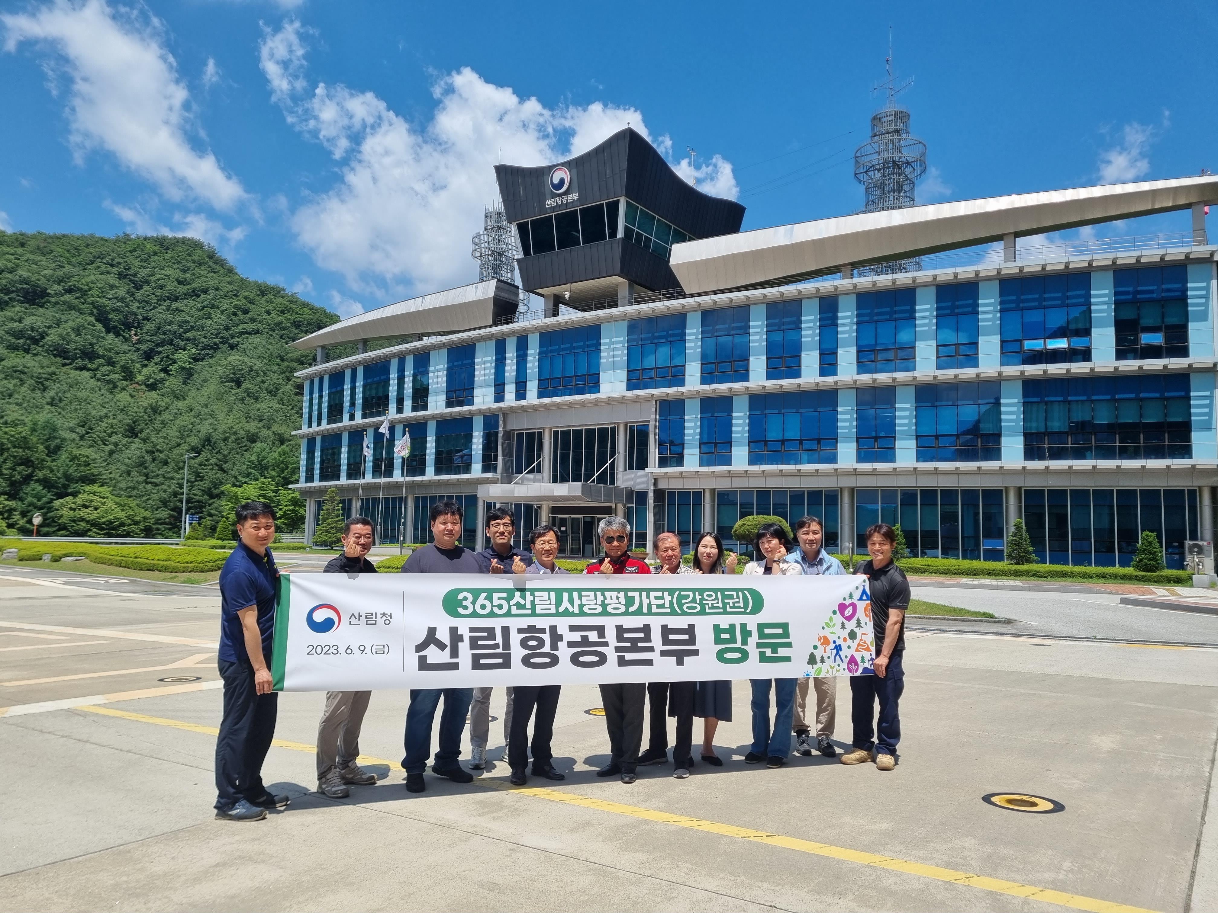
[[[1189,375],[1023,382],[1027,460],[1192,458]]]

